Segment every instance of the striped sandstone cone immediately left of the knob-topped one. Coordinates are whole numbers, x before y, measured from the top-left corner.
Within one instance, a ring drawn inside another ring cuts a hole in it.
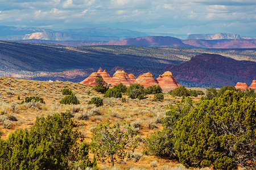
[[[144,87],[148,86],[158,86],[158,81],[154,78],[154,76],[148,72],[142,75],[139,75],[139,77],[135,80],[135,83],[141,84]]]

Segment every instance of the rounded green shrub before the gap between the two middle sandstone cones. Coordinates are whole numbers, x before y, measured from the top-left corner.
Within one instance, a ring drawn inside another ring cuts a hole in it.
[[[142,95],[144,99],[145,90],[144,90],[144,86],[141,84],[131,84],[131,86],[127,88],[126,92],[129,98],[131,99],[136,99],[139,96],[140,98],[142,98]]]

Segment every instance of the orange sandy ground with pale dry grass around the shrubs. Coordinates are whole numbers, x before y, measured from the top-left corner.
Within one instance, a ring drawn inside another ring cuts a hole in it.
[[[63,88],[69,88],[80,100],[79,105],[64,105],[59,101],[64,97]],[[88,93],[90,91],[90,94]],[[20,100],[18,100],[20,96]],[[40,96],[46,104],[31,102],[20,104],[25,97]],[[35,124],[36,117],[47,116],[55,112],[72,111],[73,120],[77,129],[85,135],[85,140],[89,143],[93,129],[106,120],[110,124],[129,121],[138,137],[141,139],[139,147],[131,154],[131,158],[118,160],[115,167],[110,167],[109,163],[98,162],[100,169],[184,169],[178,168],[180,164],[168,159],[159,159],[155,156],[143,155],[143,138],[148,137],[154,131],[163,129],[161,120],[167,111],[167,106],[180,102],[181,98],[174,98],[164,95],[163,102],[152,102],[153,95],[148,95],[146,99],[129,99],[122,103],[121,99],[103,98],[104,105],[96,107],[88,105],[90,98],[102,94],[92,90],[92,87],[71,82],[40,82],[34,80],[22,80],[1,77],[0,79],[0,131],[2,139],[7,139],[8,135],[16,129],[30,129]],[[193,100],[197,100],[193,99]],[[90,157],[92,158],[90,153]],[[156,163],[154,163],[156,162]],[[155,167],[155,165],[157,167]]]

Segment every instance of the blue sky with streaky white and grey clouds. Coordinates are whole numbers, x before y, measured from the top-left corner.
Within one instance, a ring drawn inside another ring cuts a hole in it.
[[[0,25],[256,37],[255,0],[0,0]]]

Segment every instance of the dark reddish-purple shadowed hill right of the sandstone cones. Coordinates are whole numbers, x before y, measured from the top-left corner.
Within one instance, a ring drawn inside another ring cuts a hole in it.
[[[171,70],[179,82],[222,87],[234,86],[237,82],[251,83],[256,79],[255,68],[256,62],[237,61],[217,54],[200,54],[180,65],[167,66],[163,71]]]

